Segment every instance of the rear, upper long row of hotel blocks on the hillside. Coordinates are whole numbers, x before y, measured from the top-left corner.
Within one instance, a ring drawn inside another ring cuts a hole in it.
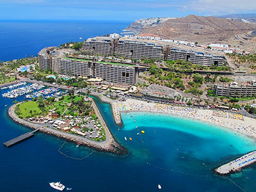
[[[151,41],[152,42],[152,41]],[[161,42],[157,45],[154,41],[130,40],[125,38],[95,37],[88,38],[83,44],[84,54],[101,54],[106,56],[120,56],[133,59],[156,59],[156,60],[184,60],[195,65],[221,66],[225,57],[212,55],[205,52],[195,52],[181,49],[173,49],[168,43]]]

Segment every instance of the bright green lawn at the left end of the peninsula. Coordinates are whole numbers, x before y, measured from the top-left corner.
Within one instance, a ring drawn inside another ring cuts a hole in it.
[[[32,115],[35,115],[34,111],[36,111],[37,115],[42,113],[41,109],[38,108],[36,101],[23,102],[20,104],[20,116],[22,118],[26,118],[26,116],[31,115],[29,111],[32,111]]]

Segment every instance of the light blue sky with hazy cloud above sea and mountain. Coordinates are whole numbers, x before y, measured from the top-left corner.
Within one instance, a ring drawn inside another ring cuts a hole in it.
[[[256,13],[255,0],[0,0],[0,20],[136,20]]]

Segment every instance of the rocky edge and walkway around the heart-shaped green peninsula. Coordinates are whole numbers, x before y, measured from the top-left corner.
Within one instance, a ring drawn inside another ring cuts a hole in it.
[[[104,128],[106,129],[106,132],[109,133],[109,141],[102,141],[102,142],[92,141],[92,140],[88,140],[87,138],[82,138],[81,136],[69,134],[67,132],[58,131],[56,129],[50,129],[47,127],[46,124],[34,124],[31,122],[27,122],[26,120],[20,119],[14,113],[14,108],[16,105],[17,104],[14,104],[8,109],[8,115],[10,116],[10,118],[12,118],[12,120],[17,122],[18,124],[22,124],[26,127],[30,127],[31,129],[39,129],[39,131],[41,131],[41,132],[45,132],[47,134],[51,134],[58,138],[63,138],[65,140],[72,141],[79,145],[85,145],[86,147],[93,148],[100,152],[110,152],[112,154],[119,154],[119,155],[127,154],[127,149],[122,147],[122,145],[120,145],[119,143],[117,143],[114,140],[108,127],[104,127]],[[97,111],[97,108],[95,109],[95,112],[96,111]],[[98,112],[97,115],[100,118],[100,121],[102,121],[103,120],[102,116],[100,115],[99,111],[97,111],[97,112]],[[102,122],[102,125],[106,126],[104,120]]]

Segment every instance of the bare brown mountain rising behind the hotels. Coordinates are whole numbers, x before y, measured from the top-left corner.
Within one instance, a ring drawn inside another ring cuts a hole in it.
[[[220,42],[237,34],[256,30],[256,24],[248,24],[230,19],[188,15],[170,19],[154,27],[141,31],[175,40],[198,42]]]

